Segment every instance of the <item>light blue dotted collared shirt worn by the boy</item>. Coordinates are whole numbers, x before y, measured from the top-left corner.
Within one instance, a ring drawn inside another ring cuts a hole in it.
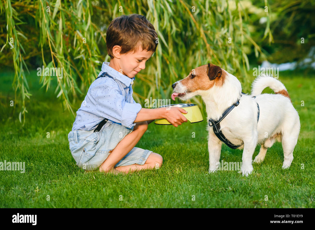
[[[101,71],[89,87],[88,93],[77,111],[73,130],[94,130],[98,124],[107,118],[104,125],[116,122],[130,129],[139,113],[141,104],[136,103],[132,97],[132,84],[135,77],[129,78],[109,66],[109,62],[103,62]]]

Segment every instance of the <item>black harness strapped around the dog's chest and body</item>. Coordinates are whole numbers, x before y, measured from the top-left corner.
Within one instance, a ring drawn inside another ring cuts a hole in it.
[[[246,94],[246,93],[242,92],[242,94]],[[242,97],[242,94],[241,94],[241,97]],[[255,96],[253,98],[255,98]],[[209,126],[213,127],[213,132],[215,133],[215,136],[217,136],[222,142],[224,142],[231,149],[237,149],[238,147],[242,146],[243,144],[235,145],[235,144],[232,144],[228,139],[226,139],[226,137],[223,135],[222,131],[220,130],[221,129],[220,122],[223,120],[223,118],[226,117],[226,115],[229,114],[229,112],[232,111],[232,109],[234,109],[235,106],[238,106],[240,99],[238,99],[237,102],[235,102],[229,108],[227,108],[218,120],[209,119],[209,121],[208,121]],[[257,122],[258,122],[258,120],[259,120],[259,105],[257,102],[256,102],[256,104],[257,104],[257,108],[258,108],[258,115],[257,115]]]

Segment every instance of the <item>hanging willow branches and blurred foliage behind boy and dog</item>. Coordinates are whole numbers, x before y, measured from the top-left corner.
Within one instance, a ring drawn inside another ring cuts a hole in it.
[[[250,65],[302,59],[314,43],[314,8],[312,1],[302,0],[1,0],[0,65],[14,71],[14,109],[23,124],[31,100],[29,70],[63,67],[62,78],[38,76],[38,81],[46,90],[54,87],[56,100],[74,118],[77,102],[102,62],[110,60],[109,23],[122,14],[142,14],[159,41],[146,69],[136,76],[133,97],[144,106],[146,98],[169,99],[172,83],[208,62],[248,85]],[[201,98],[188,102],[203,110]]]

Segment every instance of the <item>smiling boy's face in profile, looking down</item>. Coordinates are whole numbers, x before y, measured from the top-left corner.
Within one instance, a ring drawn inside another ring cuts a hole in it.
[[[133,78],[140,70],[146,68],[146,61],[152,56],[154,52],[142,50],[139,46],[135,52],[128,52],[120,54],[118,59],[120,69],[123,74],[129,78]]]

